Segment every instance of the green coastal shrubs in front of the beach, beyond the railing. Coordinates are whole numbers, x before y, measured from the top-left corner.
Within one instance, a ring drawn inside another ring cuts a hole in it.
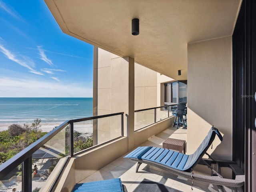
[[[21,150],[47,134],[42,132],[41,119],[35,119],[31,125],[12,124],[7,130],[0,132],[0,164],[12,158]],[[74,131],[74,152],[79,152],[92,146],[92,136],[83,136]],[[69,128],[66,127],[66,155],[69,150]],[[61,155],[61,154],[60,154]],[[63,156],[63,155],[62,155]],[[64,155],[65,156],[65,155]]]

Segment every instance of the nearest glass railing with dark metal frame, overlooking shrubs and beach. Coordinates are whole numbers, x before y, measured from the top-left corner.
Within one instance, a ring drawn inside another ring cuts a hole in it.
[[[53,188],[70,157],[122,137],[123,118],[121,112],[64,122],[0,165],[0,191],[38,190],[57,168]]]

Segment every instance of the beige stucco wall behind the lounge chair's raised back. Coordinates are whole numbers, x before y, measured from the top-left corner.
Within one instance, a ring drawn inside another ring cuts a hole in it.
[[[208,152],[232,158],[232,37],[188,44],[187,151],[193,153],[212,125],[223,134]]]

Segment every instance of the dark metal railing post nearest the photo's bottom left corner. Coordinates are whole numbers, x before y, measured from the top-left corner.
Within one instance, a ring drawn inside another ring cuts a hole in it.
[[[22,163],[22,191],[32,192],[32,156]]]

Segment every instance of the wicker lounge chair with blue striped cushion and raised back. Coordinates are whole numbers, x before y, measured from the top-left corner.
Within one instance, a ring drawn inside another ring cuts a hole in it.
[[[241,168],[232,161],[217,161],[214,160],[206,151],[212,144],[215,135],[222,141],[222,136],[217,128],[212,128],[208,132],[206,138],[200,144],[198,149],[190,155],[182,154],[173,150],[157,147],[138,147],[124,158],[130,158],[131,160],[138,161],[136,172],[142,163],[152,165],[163,170],[166,170],[172,174],[182,176],[184,178],[194,181],[201,181],[211,184],[216,184],[219,191],[223,191],[222,186],[241,187],[244,185],[245,176]],[[202,158],[204,154],[207,154],[209,158]],[[193,169],[197,164],[205,164],[212,171],[212,175],[202,175],[193,173]],[[229,167],[236,175],[235,179],[223,178],[221,176],[220,167]]]

